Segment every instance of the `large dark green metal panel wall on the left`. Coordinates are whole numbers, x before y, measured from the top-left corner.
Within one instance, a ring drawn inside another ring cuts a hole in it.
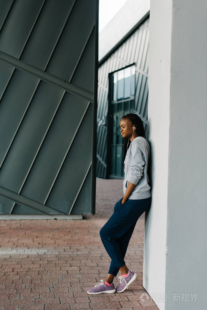
[[[0,5],[0,214],[95,214],[98,1]]]

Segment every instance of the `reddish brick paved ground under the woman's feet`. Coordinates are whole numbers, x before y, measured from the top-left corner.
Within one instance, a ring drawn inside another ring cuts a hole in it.
[[[108,274],[111,259],[99,230],[123,197],[122,182],[97,178],[96,215],[83,220],[0,220],[1,310],[158,309],[142,286],[144,214],[125,256],[137,273],[130,290],[87,294]]]

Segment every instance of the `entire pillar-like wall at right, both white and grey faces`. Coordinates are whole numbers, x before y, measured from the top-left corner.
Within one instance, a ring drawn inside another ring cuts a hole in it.
[[[205,309],[206,12],[205,0],[151,0],[152,205],[145,222],[143,286],[149,294],[166,294],[167,302],[155,301],[165,310]],[[198,299],[183,301],[182,294]]]

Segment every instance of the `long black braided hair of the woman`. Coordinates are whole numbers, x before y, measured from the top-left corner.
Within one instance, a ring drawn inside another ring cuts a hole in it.
[[[144,126],[143,126],[143,122],[141,120],[141,118],[137,115],[137,114],[134,114],[134,113],[128,113],[126,115],[123,115],[122,118],[124,119],[128,119],[132,125],[134,125],[136,127],[136,131],[137,131],[137,134],[139,136],[142,136],[143,138],[146,139],[146,136],[145,136],[145,132],[144,132]],[[122,166],[124,167],[124,161],[125,161],[125,157],[126,157],[126,152],[127,152],[127,144],[129,143],[129,146],[131,144],[131,141],[130,139],[128,138],[124,138],[124,146],[123,146],[123,162],[122,162]]]

